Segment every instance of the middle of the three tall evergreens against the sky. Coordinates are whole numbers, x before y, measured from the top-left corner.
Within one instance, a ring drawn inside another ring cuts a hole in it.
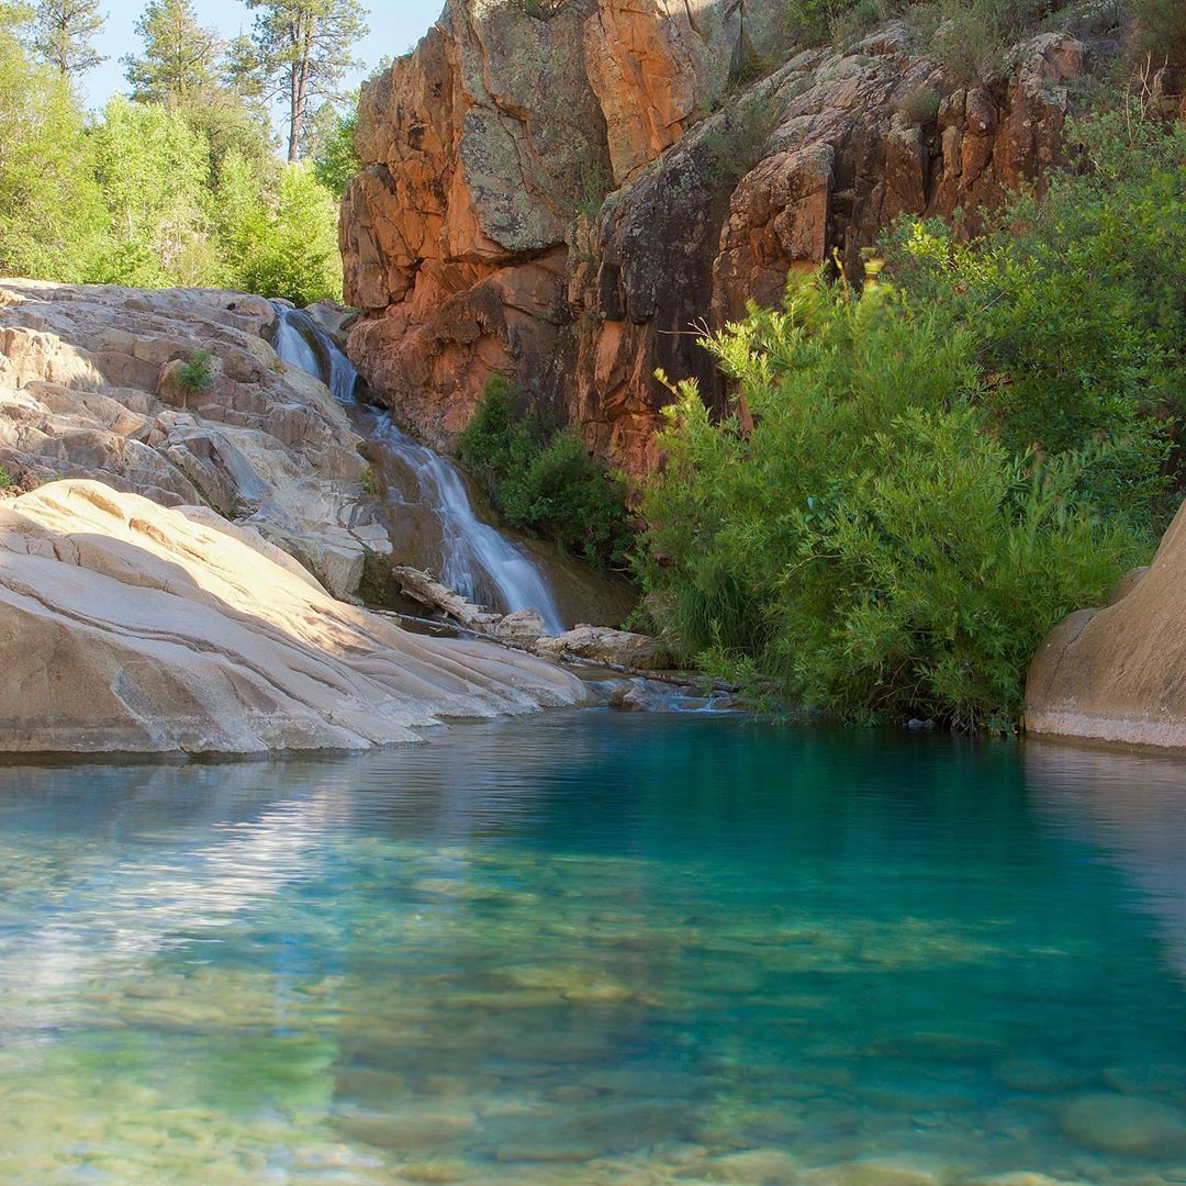
[[[190,0],[148,0],[136,32],[144,52],[121,59],[136,102],[185,102],[217,85],[225,44],[198,24]]]

